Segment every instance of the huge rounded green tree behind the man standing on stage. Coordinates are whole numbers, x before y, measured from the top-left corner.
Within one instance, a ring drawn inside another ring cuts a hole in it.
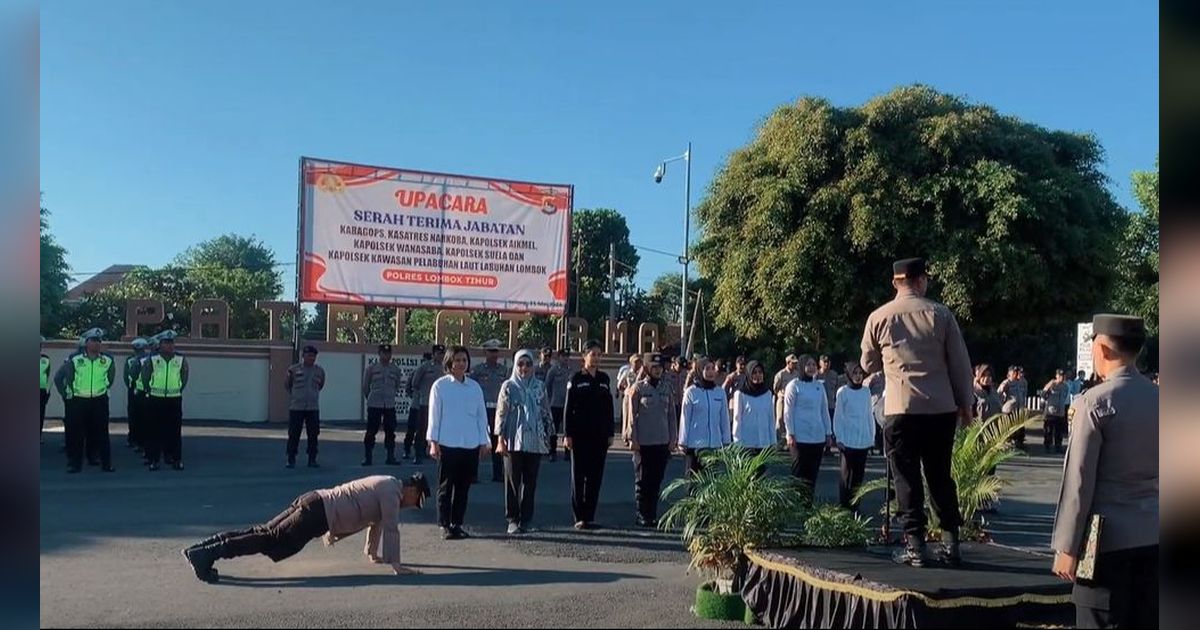
[[[853,353],[890,263],[923,256],[931,296],[976,334],[1068,328],[1114,281],[1124,217],[1102,160],[1091,136],[922,85],[780,107],[696,210],[718,323]]]

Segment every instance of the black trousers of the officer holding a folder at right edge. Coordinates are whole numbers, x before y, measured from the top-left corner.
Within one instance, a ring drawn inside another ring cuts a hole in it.
[[[1158,545],[1100,553],[1072,600],[1075,628],[1158,628]]]

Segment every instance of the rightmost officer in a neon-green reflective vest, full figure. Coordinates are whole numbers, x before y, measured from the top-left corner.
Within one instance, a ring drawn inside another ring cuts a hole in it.
[[[160,457],[175,470],[184,469],[184,389],[190,367],[187,358],[175,352],[174,330],[156,338],[158,350],[142,362],[142,386],[146,391],[143,426],[150,438],[146,461],[158,469]]]

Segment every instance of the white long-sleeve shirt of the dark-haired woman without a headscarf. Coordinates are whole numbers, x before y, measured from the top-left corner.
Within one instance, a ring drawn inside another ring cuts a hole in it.
[[[430,390],[430,428],[426,439],[451,449],[478,449],[491,444],[484,389],[473,378],[458,382],[446,374]]]

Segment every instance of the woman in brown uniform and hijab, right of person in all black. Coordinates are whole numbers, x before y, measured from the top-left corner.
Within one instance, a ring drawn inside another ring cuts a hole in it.
[[[637,526],[658,527],[659,491],[679,439],[671,384],[662,378],[662,355],[650,356],[638,380],[625,390],[624,404],[622,438],[634,452]]]

